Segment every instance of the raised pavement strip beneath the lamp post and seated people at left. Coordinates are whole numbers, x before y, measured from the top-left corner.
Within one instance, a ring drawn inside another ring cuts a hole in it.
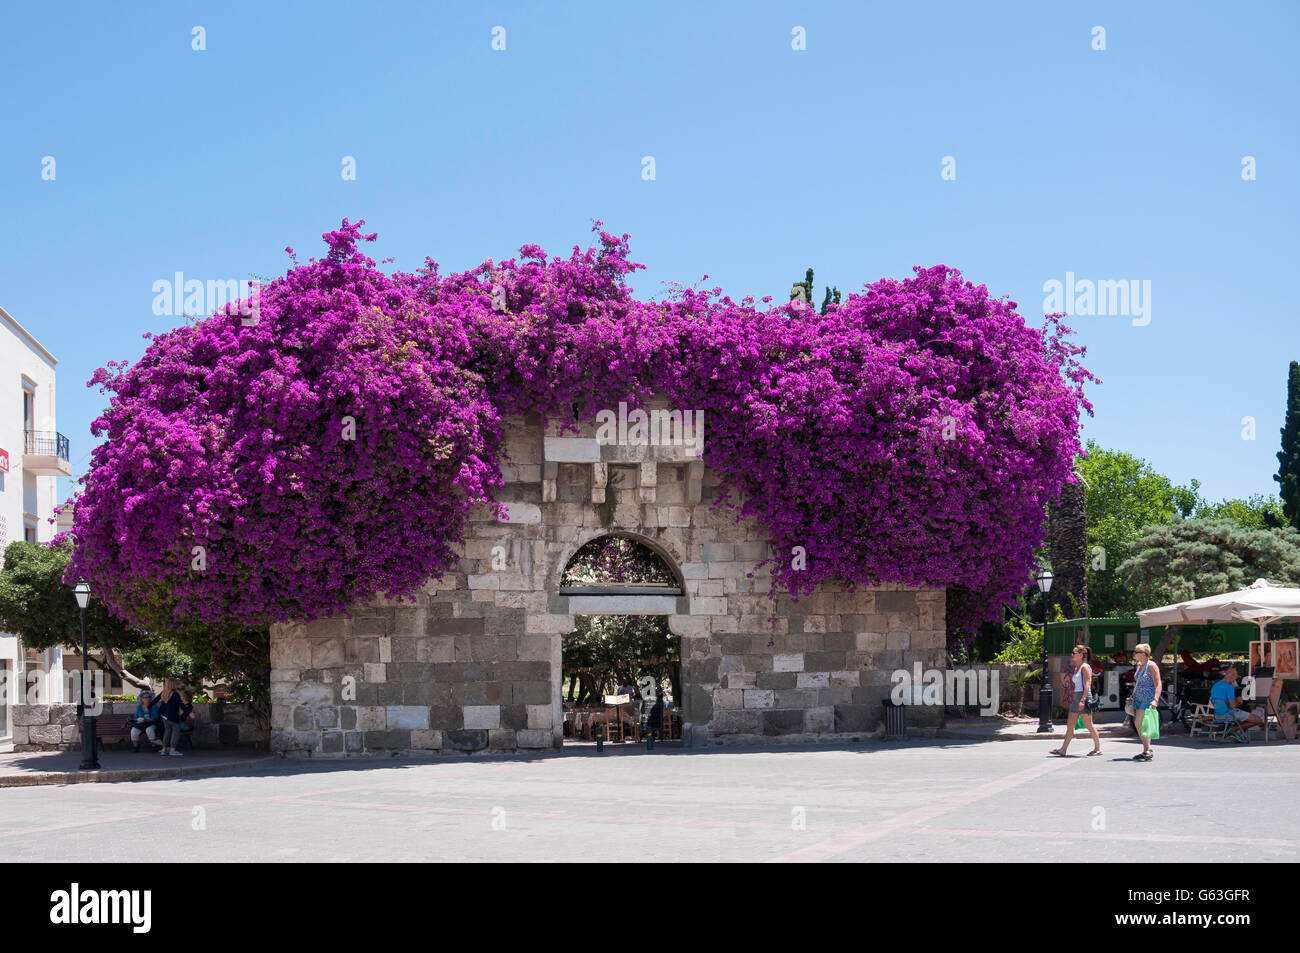
[[[143,777],[185,777],[229,768],[252,767],[273,755],[251,748],[198,748],[179,758],[148,750],[101,750],[99,771],[79,771],[81,751],[27,751],[0,754],[0,788],[34,784],[86,784],[130,781]]]

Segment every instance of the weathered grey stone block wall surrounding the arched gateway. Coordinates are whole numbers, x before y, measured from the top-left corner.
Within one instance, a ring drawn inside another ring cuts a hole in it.
[[[273,748],[558,748],[560,638],[589,612],[668,616],[681,637],[686,744],[861,736],[880,724],[894,668],[946,666],[941,589],[824,586],[797,603],[780,597],[774,612],[768,576],[755,572],[762,528],[710,506],[716,475],[692,449],[601,446],[594,433],[507,421],[508,519],[473,507],[456,572],[415,602],[273,627]],[[611,532],[663,555],[684,594],[562,595],[568,560]],[[913,723],[924,714],[914,709]]]

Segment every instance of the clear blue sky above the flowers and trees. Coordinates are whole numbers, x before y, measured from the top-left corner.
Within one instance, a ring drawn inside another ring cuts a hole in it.
[[[443,270],[567,254],[601,218],[647,296],[707,273],[784,299],[809,265],[820,296],[945,263],[1037,322],[1067,272],[1149,281],[1144,326],[1066,321],[1104,381],[1086,436],[1209,498],[1274,493],[1300,359],[1297,5],[984,7],[8,7],[0,306],[60,359],[81,473],[104,403],[84,381],[179,321],[155,281],[282,273],[344,216],[373,257]]]

